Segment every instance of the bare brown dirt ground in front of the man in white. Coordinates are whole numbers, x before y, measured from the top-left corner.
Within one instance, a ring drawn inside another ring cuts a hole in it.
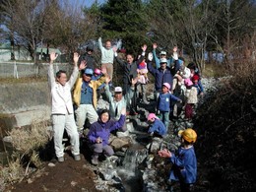
[[[65,154],[64,162],[53,161],[55,166],[47,165],[25,178],[22,182],[9,186],[6,191],[13,192],[75,192],[75,191],[97,191],[94,180],[96,174],[94,166],[85,157],[75,161]]]

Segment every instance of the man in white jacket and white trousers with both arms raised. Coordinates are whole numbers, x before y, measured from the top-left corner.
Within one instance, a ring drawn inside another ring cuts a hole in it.
[[[53,61],[57,58],[54,52],[50,53],[50,64],[48,67],[48,78],[50,82],[51,97],[52,97],[52,127],[54,149],[58,161],[64,161],[64,149],[62,146],[62,139],[64,129],[70,137],[71,153],[75,160],[81,160],[79,151],[79,134],[74,119],[74,109],[71,97],[71,89],[74,86],[79,69],[78,69],[78,53],[74,53],[74,70],[67,81],[67,74],[65,71],[58,71],[56,73],[56,81],[53,72]],[[85,69],[86,64],[82,63],[80,69]]]

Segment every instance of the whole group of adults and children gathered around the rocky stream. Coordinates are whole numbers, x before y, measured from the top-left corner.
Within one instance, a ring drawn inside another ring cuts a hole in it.
[[[50,53],[48,77],[52,96],[53,139],[55,154],[60,162],[64,161],[62,145],[64,129],[70,137],[74,160],[81,160],[80,135],[83,133],[87,119],[91,125],[87,138],[93,151],[92,163],[97,164],[98,156],[102,153],[105,157],[114,154],[108,144],[109,135],[115,130],[127,130],[126,115],[129,112],[136,113],[133,101],[137,99],[137,88],[142,92],[142,101],[149,103],[147,100],[149,72],[155,78],[157,100],[156,111],[148,116],[150,123],[148,132],[153,136],[164,137],[168,133],[169,116],[173,112],[172,107],[175,103],[184,103],[185,116],[191,119],[197,96],[204,92],[196,65],[190,63],[185,66],[184,59],[178,57],[176,46],[173,47],[170,58],[166,57],[165,51],[160,51],[159,58],[156,53],[158,45],[154,43],[153,53],[149,53],[146,59],[147,45],[145,44],[141,47],[141,55],[135,57],[133,54],[126,54],[125,60],[118,57],[117,48],[112,46],[110,40],[106,40],[103,46],[99,37],[98,46],[101,51],[101,69],[96,68],[94,47],[89,45],[84,55],[79,56],[78,53],[74,53],[74,69],[69,80],[66,72],[62,70],[58,71],[56,79],[54,78],[52,64],[57,55]],[[112,94],[110,87],[114,60],[123,69],[123,85],[115,87]],[[154,61],[156,67],[153,64]],[[109,108],[100,111],[97,110],[99,89],[104,89],[109,102]],[[169,158],[173,164],[176,164],[173,166],[176,170],[173,169],[170,178],[180,181],[184,178],[181,181],[182,187],[187,188],[195,182],[196,178],[196,158],[193,149],[196,133],[193,129],[187,129],[179,134],[183,146],[178,155],[175,156],[167,150],[160,151],[159,155]],[[177,172],[178,175],[176,175]]]

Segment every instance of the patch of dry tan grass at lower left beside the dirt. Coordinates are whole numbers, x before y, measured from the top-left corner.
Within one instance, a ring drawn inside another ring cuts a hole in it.
[[[1,188],[4,188],[5,184],[23,180],[30,173],[31,164],[36,168],[40,167],[42,162],[38,157],[38,150],[50,139],[46,121],[33,121],[31,128],[16,128],[9,132],[9,135],[12,138],[14,153],[8,160],[8,166],[0,166]]]

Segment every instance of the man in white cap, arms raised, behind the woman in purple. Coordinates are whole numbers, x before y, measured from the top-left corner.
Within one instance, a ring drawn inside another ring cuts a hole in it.
[[[109,102],[109,113],[111,118],[114,120],[118,120],[121,116],[121,111],[124,108],[126,112],[126,106],[127,102],[131,100],[131,98],[134,96],[135,92],[135,84],[137,83],[137,79],[132,79],[132,86],[128,93],[123,96],[122,94],[122,88],[121,87],[115,87],[114,88],[114,96],[109,91],[108,83],[110,82],[109,78],[106,78],[105,80],[105,95]],[[126,123],[122,126],[122,131],[126,131],[127,126]]]

